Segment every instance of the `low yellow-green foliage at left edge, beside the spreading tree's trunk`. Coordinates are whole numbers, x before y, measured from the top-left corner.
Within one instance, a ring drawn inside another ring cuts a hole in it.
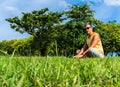
[[[0,50],[5,51],[8,54],[12,54],[15,51],[16,55],[35,55],[35,50],[33,43],[33,37],[14,39],[14,40],[4,40],[0,42]]]

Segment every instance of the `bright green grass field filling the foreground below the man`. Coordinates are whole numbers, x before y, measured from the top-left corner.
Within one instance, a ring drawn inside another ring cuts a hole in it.
[[[0,87],[120,87],[120,57],[0,56]]]

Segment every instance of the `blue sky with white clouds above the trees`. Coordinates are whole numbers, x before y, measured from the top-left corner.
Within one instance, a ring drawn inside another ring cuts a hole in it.
[[[116,20],[120,24],[120,0],[0,0],[0,41],[26,38],[10,28],[6,18],[21,17],[22,12],[31,12],[42,8],[50,11],[64,11],[73,4],[88,3],[95,10],[94,17],[103,22]]]

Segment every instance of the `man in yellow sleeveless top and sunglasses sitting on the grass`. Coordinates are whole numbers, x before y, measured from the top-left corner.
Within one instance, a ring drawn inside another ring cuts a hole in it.
[[[91,24],[85,24],[84,28],[88,36],[84,46],[81,48],[81,50],[77,51],[77,54],[74,56],[74,58],[85,56],[104,58],[104,50],[99,34],[93,32]]]

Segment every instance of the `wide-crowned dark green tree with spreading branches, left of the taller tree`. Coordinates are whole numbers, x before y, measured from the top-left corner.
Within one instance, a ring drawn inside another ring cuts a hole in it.
[[[39,11],[22,13],[21,18],[7,18],[6,21],[10,22],[12,29],[20,33],[27,32],[34,36],[36,49],[40,51],[40,55],[45,55],[47,44],[52,39],[49,34],[53,32],[54,26],[62,22],[62,15],[61,12],[48,12],[48,8],[44,8]]]

